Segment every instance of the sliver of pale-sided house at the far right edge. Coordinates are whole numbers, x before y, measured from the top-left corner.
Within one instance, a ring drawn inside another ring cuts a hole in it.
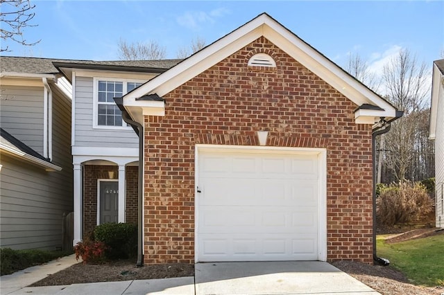
[[[436,227],[444,227],[444,60],[436,60],[432,76],[430,139],[435,140]]]

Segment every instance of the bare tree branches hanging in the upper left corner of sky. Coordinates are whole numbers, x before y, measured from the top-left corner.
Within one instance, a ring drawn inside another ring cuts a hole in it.
[[[35,5],[31,5],[29,0],[0,0],[0,37],[3,41],[8,39],[22,45],[32,46],[40,42],[28,42],[24,39],[23,29],[37,26],[29,22],[34,18],[35,12],[32,10]],[[9,51],[9,46],[1,46],[0,52]]]

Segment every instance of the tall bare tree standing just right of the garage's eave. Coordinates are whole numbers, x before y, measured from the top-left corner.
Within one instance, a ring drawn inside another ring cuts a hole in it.
[[[429,91],[427,77],[425,63],[418,64],[407,50],[400,51],[384,66],[382,79],[388,100],[404,111],[404,116],[392,123],[391,131],[385,134],[386,163],[401,181],[406,179],[418,152],[417,136],[421,133],[418,118],[425,109]]]

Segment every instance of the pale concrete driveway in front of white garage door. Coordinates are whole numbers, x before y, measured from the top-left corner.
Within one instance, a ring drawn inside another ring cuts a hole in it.
[[[196,295],[379,294],[327,262],[214,262],[195,267]]]

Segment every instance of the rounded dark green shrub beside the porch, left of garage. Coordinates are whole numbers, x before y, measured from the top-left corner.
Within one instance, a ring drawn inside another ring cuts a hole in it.
[[[105,223],[94,229],[96,241],[106,245],[105,256],[110,259],[137,256],[137,225],[129,223]]]

